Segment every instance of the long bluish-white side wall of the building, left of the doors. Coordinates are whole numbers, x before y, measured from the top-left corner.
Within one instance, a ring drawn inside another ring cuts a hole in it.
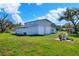
[[[33,26],[33,27],[28,27],[28,28],[19,28],[16,29],[16,34],[19,35],[35,35],[38,34],[38,27]]]

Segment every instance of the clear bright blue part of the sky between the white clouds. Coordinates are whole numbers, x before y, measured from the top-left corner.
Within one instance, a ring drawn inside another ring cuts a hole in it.
[[[32,4],[21,4],[19,11],[20,16],[23,21],[31,21],[31,20],[36,20],[36,18],[45,16],[46,14],[49,13],[50,10],[56,10],[58,8],[79,8],[78,3],[44,3],[37,5],[35,3]],[[55,23],[59,23],[58,21],[54,21]],[[62,24],[65,23],[65,21],[61,22]]]

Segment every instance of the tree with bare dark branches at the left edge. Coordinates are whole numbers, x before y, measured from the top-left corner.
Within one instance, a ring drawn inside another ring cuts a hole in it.
[[[8,19],[8,14],[5,12],[0,12],[0,32],[8,31],[8,29],[11,29],[13,27],[13,24]]]

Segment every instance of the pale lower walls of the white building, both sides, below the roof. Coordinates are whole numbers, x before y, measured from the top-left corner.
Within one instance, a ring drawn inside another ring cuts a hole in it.
[[[51,26],[33,26],[16,29],[16,34],[19,35],[47,35],[55,32],[55,28],[52,29]]]

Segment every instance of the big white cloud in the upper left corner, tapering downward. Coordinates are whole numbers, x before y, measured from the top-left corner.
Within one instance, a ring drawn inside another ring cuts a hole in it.
[[[16,21],[16,23],[22,23],[23,21],[19,16],[19,7],[20,3],[8,3],[8,4],[0,4],[0,9],[3,9],[6,13],[11,14],[12,18]]]

